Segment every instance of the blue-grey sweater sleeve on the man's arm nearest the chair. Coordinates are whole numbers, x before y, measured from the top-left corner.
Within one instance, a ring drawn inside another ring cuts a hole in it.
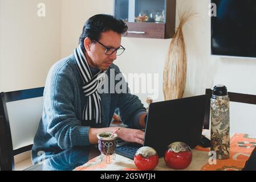
[[[76,118],[72,73],[60,67],[50,69],[44,88],[44,109],[47,133],[56,139],[58,146],[88,146],[90,127],[82,126]]]

